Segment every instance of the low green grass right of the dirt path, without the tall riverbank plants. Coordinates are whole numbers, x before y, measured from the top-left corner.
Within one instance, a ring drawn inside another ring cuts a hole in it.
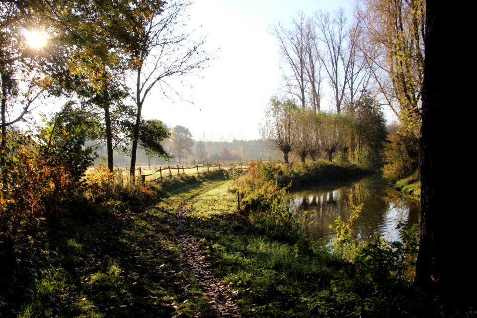
[[[187,209],[192,211],[189,221],[194,236],[246,316],[383,317],[389,313],[420,313],[415,301],[423,297],[404,279],[376,286],[371,275],[375,269],[361,266],[358,270],[327,247],[307,239],[293,243],[263,235],[243,211],[237,210],[237,197],[230,186],[223,184],[195,197]],[[221,200],[210,200],[211,196]],[[356,259],[367,263],[368,257],[377,257],[381,247],[375,247]],[[381,278],[387,282],[391,276],[384,271]]]

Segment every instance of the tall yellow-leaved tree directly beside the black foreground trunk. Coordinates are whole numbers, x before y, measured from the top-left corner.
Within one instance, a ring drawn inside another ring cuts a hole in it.
[[[361,52],[380,97],[403,124],[399,136],[415,170],[424,69],[424,0],[361,0],[357,14],[365,35]]]

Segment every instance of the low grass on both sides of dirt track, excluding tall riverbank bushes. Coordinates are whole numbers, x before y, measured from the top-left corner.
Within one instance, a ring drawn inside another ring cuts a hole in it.
[[[306,239],[260,235],[223,173],[160,187],[162,197],[149,205],[103,204],[52,229],[38,248],[41,270],[32,271],[26,293],[0,294],[0,316],[215,317],[180,252],[175,213],[188,200],[190,233],[245,317],[459,317],[410,283],[370,283],[372,272]]]

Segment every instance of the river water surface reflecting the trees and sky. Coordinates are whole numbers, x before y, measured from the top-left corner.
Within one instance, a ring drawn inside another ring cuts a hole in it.
[[[352,205],[363,204],[361,216],[353,225],[353,233],[360,238],[379,232],[397,240],[398,220],[408,229],[419,217],[419,202],[390,189],[379,175],[354,182],[309,186],[292,191],[291,195],[291,209],[303,218],[303,230],[315,240],[334,237],[336,232],[329,225],[338,216],[348,220]]]

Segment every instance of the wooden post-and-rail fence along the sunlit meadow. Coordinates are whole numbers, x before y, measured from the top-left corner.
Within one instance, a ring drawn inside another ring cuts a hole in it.
[[[207,162],[206,164],[203,165],[194,165],[194,166],[179,166],[177,165],[167,165],[167,166],[159,166],[159,169],[152,173],[145,173],[143,174],[143,169],[142,167],[139,168],[139,174],[141,175],[141,181],[144,182],[151,182],[151,181],[156,181],[156,180],[162,180],[163,178],[166,177],[172,177],[174,175],[180,176],[181,174],[184,175],[200,175],[201,173],[207,173],[210,171],[218,171],[218,170],[231,170],[234,167],[236,167],[238,170],[243,171],[248,169],[248,164],[247,163],[229,163],[229,164],[210,164]],[[144,169],[145,170],[145,169]],[[187,170],[187,171],[186,171]],[[193,171],[189,171],[193,170]],[[192,172],[192,173],[191,173]],[[159,175],[158,175],[159,174]],[[152,177],[155,176],[155,177]],[[157,177],[156,177],[157,176]],[[146,177],[150,177],[148,180],[146,180]]]

